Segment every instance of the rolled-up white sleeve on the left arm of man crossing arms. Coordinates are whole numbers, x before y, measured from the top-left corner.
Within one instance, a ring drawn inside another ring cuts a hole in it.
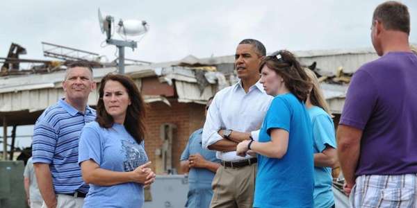
[[[223,137],[218,134],[218,131],[223,125],[217,98],[218,96],[215,96],[210,107],[208,107],[206,122],[204,123],[202,147],[206,150],[208,150],[208,146],[211,146],[212,144],[215,144],[223,139]]]

